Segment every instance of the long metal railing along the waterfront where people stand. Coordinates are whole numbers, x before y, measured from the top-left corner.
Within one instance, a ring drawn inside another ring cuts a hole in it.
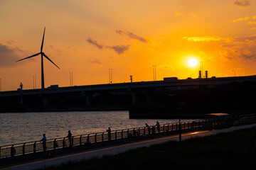
[[[181,130],[200,130],[200,129],[213,129],[223,128],[223,126],[234,125],[239,121],[239,125],[242,123],[255,123],[255,115],[240,116],[237,121],[233,118],[218,118],[208,120],[196,120],[190,122],[181,123]],[[47,140],[47,150],[60,149],[70,146],[90,145],[97,142],[105,142],[108,140],[122,140],[127,137],[139,137],[150,135],[152,132],[155,134],[163,132],[178,132],[178,123],[167,123],[160,125],[159,128],[151,126],[150,131],[146,127],[130,128],[124,130],[112,130],[109,132],[97,132],[84,135],[75,135],[68,140],[68,137],[59,137],[55,139]],[[154,128],[154,130],[153,130]],[[14,145],[0,146],[0,159],[6,157],[15,157],[18,155],[31,154],[36,152],[43,152],[43,145],[41,141],[23,142]]]

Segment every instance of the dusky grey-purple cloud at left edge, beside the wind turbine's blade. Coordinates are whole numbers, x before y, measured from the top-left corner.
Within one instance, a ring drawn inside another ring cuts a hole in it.
[[[16,63],[20,58],[19,52],[23,52],[23,50],[18,47],[11,47],[8,45],[4,45],[0,43],[0,67],[11,67]]]

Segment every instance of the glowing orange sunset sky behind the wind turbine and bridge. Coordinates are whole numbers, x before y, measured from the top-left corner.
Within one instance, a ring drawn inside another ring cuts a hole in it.
[[[256,0],[0,0],[1,91],[256,74]],[[198,64],[191,67],[194,58]]]

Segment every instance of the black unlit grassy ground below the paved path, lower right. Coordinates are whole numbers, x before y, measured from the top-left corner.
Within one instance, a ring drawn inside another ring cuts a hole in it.
[[[50,169],[255,169],[256,128],[142,147]],[[253,146],[253,147],[251,147]],[[254,155],[253,155],[254,152]],[[247,155],[249,154],[249,159]]]

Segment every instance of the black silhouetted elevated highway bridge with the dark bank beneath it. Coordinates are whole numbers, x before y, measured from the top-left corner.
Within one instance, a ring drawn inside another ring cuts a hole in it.
[[[207,113],[252,113],[256,76],[164,78],[89,86],[50,86],[0,92],[0,112],[129,111],[130,118],[197,118]]]

